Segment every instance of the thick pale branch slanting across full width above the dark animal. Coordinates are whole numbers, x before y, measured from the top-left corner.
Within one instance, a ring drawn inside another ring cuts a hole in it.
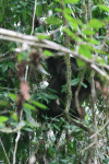
[[[107,34],[107,37],[109,34]],[[109,80],[108,74],[102,71],[99,67],[106,68],[109,70],[109,66],[100,65],[100,63],[94,63],[94,59],[88,59],[82,55],[80,55],[76,50],[70,50],[69,48],[65,48],[59,44],[56,44],[55,42],[47,40],[47,39],[39,39],[37,36],[29,36],[29,35],[24,35],[17,32],[0,28],[0,38],[5,39],[5,40],[11,40],[15,43],[26,43],[28,46],[33,46],[35,48],[49,48],[49,49],[55,49],[62,51],[64,54],[72,54],[75,58],[78,58],[83,60],[84,62],[87,62],[87,66],[89,66],[92,69],[94,69],[96,72],[101,74],[106,80]],[[84,42],[82,43],[84,44]],[[86,45],[86,43],[85,43]]]

